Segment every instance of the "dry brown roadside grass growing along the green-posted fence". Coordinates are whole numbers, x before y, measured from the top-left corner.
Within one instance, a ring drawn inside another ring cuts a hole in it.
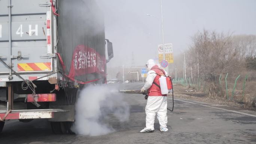
[[[246,86],[243,94],[244,77],[241,77],[237,81],[237,86],[232,97],[232,91],[234,88],[235,80],[228,80],[228,98],[226,95],[225,81],[222,79],[221,85],[219,80],[217,82],[204,82],[204,85],[197,87],[192,84],[185,86],[186,89],[196,90],[205,94],[208,99],[222,99],[225,102],[232,102],[243,105],[244,108],[256,107],[256,81],[246,81]],[[201,82],[202,83],[202,82]],[[179,85],[181,86],[181,85]]]

